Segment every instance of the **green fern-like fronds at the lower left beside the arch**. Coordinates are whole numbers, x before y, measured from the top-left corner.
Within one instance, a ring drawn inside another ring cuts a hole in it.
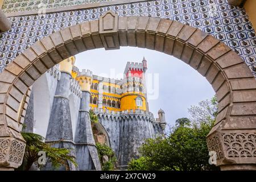
[[[26,148],[24,152],[24,158],[22,162],[22,166],[19,169],[24,169],[28,171],[33,163],[38,164],[39,151],[46,152],[46,156],[48,158],[48,162],[51,162],[54,167],[59,167],[61,165],[65,166],[67,170],[69,170],[67,165],[67,160],[75,164],[75,158],[69,155],[69,150],[67,148],[54,148],[51,147],[50,144],[44,143],[44,138],[41,135],[34,133],[25,133],[22,132],[22,137],[26,140]],[[38,164],[38,167],[42,167]]]

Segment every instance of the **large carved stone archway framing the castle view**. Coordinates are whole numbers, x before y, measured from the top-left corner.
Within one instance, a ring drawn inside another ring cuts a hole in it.
[[[34,81],[79,52],[120,46],[167,53],[205,76],[219,102],[217,121],[207,137],[209,150],[217,153],[217,165],[223,170],[256,169],[256,80],[243,60],[197,28],[169,19],[118,17],[112,12],[46,36],[0,73],[1,169],[22,163],[25,142],[20,131],[27,90]]]

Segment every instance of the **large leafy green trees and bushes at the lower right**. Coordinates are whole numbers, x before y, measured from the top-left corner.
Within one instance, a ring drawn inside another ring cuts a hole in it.
[[[129,170],[218,170],[208,163],[206,136],[214,125],[217,102],[202,101],[191,107],[192,119],[177,119],[168,137],[148,139],[139,148],[141,158],[129,162]],[[202,104],[203,103],[203,104]]]

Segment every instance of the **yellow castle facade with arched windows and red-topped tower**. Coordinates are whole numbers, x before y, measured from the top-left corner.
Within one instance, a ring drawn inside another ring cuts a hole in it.
[[[135,63],[127,63],[125,78],[123,80],[112,80],[109,78],[98,79],[97,76],[80,78],[79,69],[73,67],[71,75],[74,79],[79,81],[82,90],[87,90],[91,93],[90,107],[102,108],[110,111],[124,111],[131,110],[147,110],[146,94],[142,92],[144,88],[143,65],[137,64],[137,68],[133,68]],[[128,68],[127,68],[128,67]],[[138,68],[141,67],[141,68]],[[135,79],[135,78],[136,79]],[[83,84],[82,80],[88,80],[88,84]],[[108,81],[104,81],[108,80]]]

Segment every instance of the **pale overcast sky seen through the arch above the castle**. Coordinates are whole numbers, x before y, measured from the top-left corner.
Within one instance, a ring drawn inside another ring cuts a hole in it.
[[[214,91],[205,77],[179,59],[150,49],[121,47],[105,51],[104,48],[85,51],[76,55],[76,66],[90,69],[94,75],[122,78],[127,61],[147,60],[147,89],[151,98],[149,109],[158,117],[162,108],[166,121],[174,125],[176,119],[189,117],[188,107],[214,96]],[[152,79],[150,79],[152,78]],[[152,81],[151,81],[152,80]],[[151,84],[153,82],[153,85]]]

